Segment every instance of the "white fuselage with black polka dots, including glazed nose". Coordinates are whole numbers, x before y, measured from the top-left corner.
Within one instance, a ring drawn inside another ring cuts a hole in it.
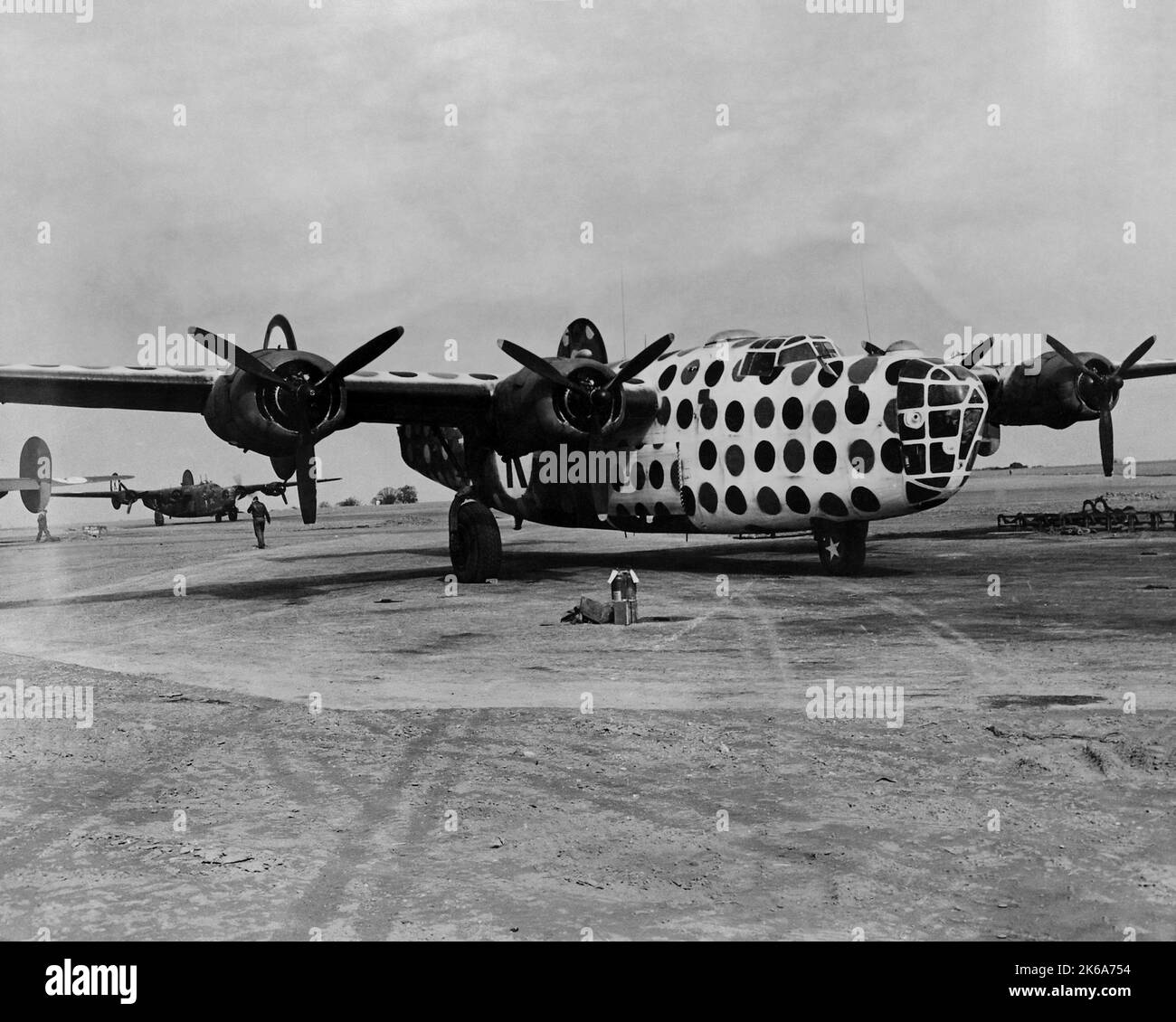
[[[982,382],[961,366],[908,350],[846,358],[804,335],[667,352],[640,383],[656,413],[612,445],[630,454],[627,480],[544,482],[535,452],[526,493],[500,509],[556,525],[733,534],[895,517],[963,486],[988,409]],[[448,434],[402,427],[401,450],[459,489],[462,437]]]

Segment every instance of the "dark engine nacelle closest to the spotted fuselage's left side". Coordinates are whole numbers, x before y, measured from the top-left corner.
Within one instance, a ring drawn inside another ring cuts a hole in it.
[[[592,359],[554,359],[552,365],[584,386],[603,388],[616,370]],[[494,449],[505,457],[535,450],[587,447],[623,441],[648,427],[657,414],[653,388],[627,383],[600,407],[575,390],[557,387],[529,369],[502,380],[494,389]]]

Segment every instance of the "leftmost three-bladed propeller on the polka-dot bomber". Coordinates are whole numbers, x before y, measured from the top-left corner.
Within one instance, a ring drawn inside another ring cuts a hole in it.
[[[274,320],[270,320],[270,327],[273,323]],[[360,345],[354,352],[340,359],[319,380],[308,380],[305,375],[298,374],[282,376],[270,369],[256,355],[246,352],[243,348],[239,348],[228,338],[219,336],[212,333],[212,330],[191,327],[188,333],[211,352],[220,355],[222,359],[227,359],[230,365],[241,372],[248,373],[250,376],[256,376],[259,380],[263,380],[293,398],[290,402],[290,418],[294,420],[298,432],[298,442],[294,447],[294,472],[298,476],[299,509],[302,512],[302,522],[308,526],[314,525],[319,508],[315,500],[318,486],[314,474],[316,462],[314,457],[314,422],[310,419],[310,405],[323,387],[330,387],[341,382],[345,376],[359,372],[368,362],[379,359],[380,355],[403,336],[405,328],[393,327],[390,330],[385,330],[382,334],[372,338],[370,341]],[[290,335],[292,333],[287,334],[287,336]],[[267,329],[267,340],[268,336],[269,330]],[[282,496],[285,499],[286,494],[283,493]]]

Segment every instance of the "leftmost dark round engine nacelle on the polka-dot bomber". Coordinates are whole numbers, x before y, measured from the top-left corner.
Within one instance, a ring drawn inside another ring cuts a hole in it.
[[[269,348],[254,354],[279,376],[296,383],[321,380],[332,369],[309,352]],[[307,403],[312,439],[334,433],[347,414],[341,382],[322,387]],[[240,369],[213,383],[205,405],[205,421],[221,440],[270,456],[292,455],[299,440],[296,406],[289,392]]]

